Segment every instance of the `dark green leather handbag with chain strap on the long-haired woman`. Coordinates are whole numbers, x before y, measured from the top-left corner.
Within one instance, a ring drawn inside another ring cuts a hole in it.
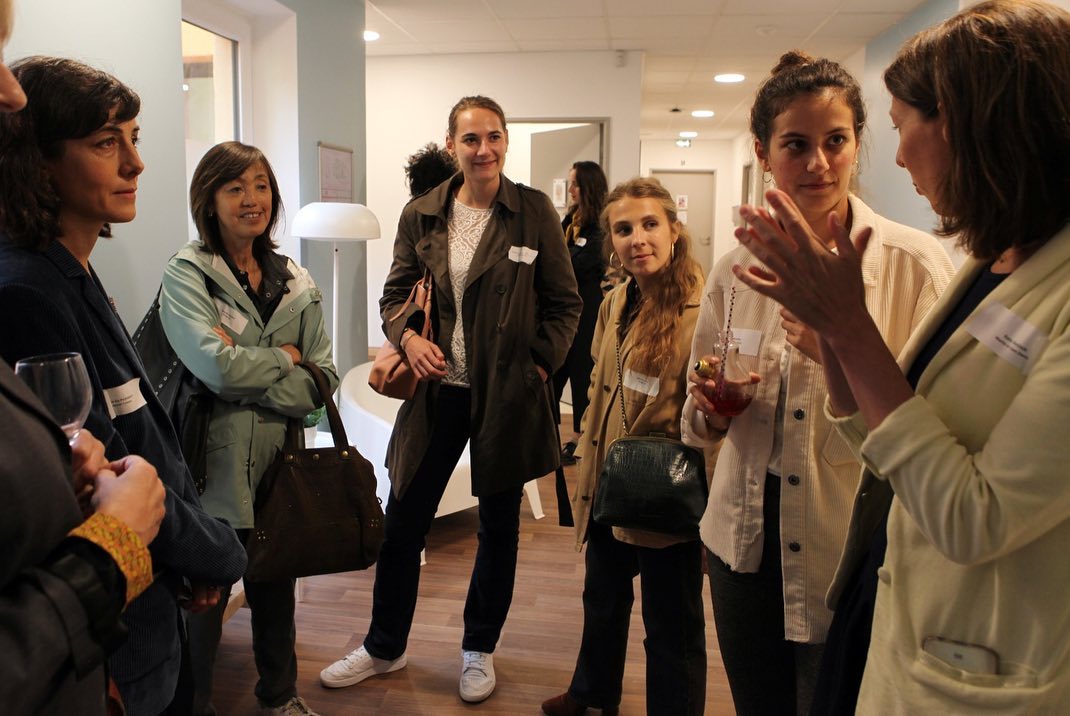
[[[620,338],[616,372],[624,436],[606,452],[595,491],[594,520],[607,527],[698,539],[699,521],[709,498],[702,452],[672,438],[629,436]]]

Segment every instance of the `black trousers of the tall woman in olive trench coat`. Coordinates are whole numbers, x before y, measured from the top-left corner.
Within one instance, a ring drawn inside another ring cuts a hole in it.
[[[419,553],[439,501],[471,432],[471,391],[439,389],[434,427],[427,454],[402,498],[391,492],[385,535],[376,565],[368,653],[396,659],[406,651],[419,591]],[[513,603],[520,536],[522,486],[479,498],[475,565],[464,603],[461,649],[493,652]]]

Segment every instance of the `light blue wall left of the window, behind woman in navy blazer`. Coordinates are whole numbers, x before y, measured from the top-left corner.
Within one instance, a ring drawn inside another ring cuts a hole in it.
[[[7,61],[27,55],[81,60],[141,95],[137,218],[112,227],[92,264],[127,326],[152,303],[164,264],[186,242],[180,0],[18,0]]]

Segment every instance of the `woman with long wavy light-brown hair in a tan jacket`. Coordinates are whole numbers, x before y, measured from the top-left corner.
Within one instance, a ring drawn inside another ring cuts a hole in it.
[[[583,635],[572,683],[542,703],[550,716],[588,706],[616,714],[638,575],[646,626],[646,713],[701,714],[706,699],[702,543],[595,522],[591,506],[609,445],[624,433],[679,436],[687,360],[699,318],[702,269],[687,228],[656,179],[632,179],[606,200],[602,229],[628,277],[598,311],[591,406],[577,453],[576,547],[586,543]],[[620,364],[617,361],[620,360]],[[623,376],[623,384],[618,379]]]

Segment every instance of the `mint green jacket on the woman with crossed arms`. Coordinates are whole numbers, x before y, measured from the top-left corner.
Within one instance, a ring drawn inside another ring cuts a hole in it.
[[[338,371],[320,290],[305,269],[287,259],[294,278],[265,325],[223,257],[190,242],[167,264],[160,317],[179,359],[216,394],[201,503],[234,529],[248,529],[257,485],[282,445],[287,420],[322,403],[311,376],[279,347],[296,346],[305,362],[323,369],[332,391]],[[233,347],[213,331],[219,325]]]

